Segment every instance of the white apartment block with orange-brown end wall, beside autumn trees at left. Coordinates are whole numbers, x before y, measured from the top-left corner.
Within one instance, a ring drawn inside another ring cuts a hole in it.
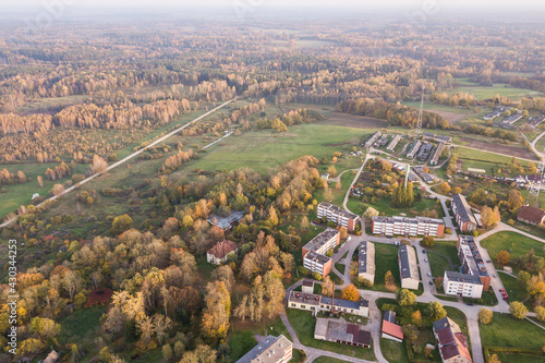
[[[303,266],[313,273],[326,276],[331,271],[332,262],[325,254],[335,249],[340,241],[340,233],[335,229],[327,229],[316,235],[302,249]]]

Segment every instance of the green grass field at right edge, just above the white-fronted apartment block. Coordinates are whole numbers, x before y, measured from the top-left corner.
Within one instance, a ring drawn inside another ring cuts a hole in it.
[[[545,257],[545,244],[517,232],[495,233],[481,241],[481,245],[488,250],[494,264],[500,251],[510,252],[511,259],[525,254],[530,249],[533,249],[537,256]]]

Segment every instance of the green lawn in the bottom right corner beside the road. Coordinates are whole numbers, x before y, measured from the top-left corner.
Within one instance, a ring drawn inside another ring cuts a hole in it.
[[[541,349],[545,334],[526,320],[516,320],[510,314],[494,313],[491,324],[480,324],[483,347],[513,347]],[[543,360],[542,360],[543,362]]]

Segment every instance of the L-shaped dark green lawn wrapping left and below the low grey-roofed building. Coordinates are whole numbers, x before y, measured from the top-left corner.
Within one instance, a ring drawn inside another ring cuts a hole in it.
[[[330,341],[319,341],[314,339],[314,327],[316,325],[316,319],[311,316],[311,312],[304,312],[295,308],[288,308],[288,318],[290,319],[293,329],[295,330],[301,343],[307,347],[313,347],[317,349],[328,350],[331,352],[360,358],[364,360],[374,361],[375,354],[373,353],[373,347],[358,348],[344,344],[338,344]]]

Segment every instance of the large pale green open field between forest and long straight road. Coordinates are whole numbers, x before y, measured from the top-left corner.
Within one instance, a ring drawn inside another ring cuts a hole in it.
[[[232,170],[249,167],[259,172],[304,155],[331,158],[332,153],[359,145],[365,130],[307,123],[290,126],[289,132],[250,131],[211,146],[193,168]]]

